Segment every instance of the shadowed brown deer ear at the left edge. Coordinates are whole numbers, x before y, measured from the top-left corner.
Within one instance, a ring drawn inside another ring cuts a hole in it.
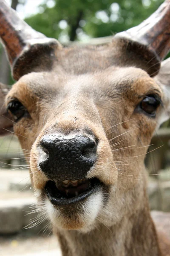
[[[11,116],[5,107],[5,96],[8,90],[6,85],[0,83],[0,136],[9,134],[13,130]]]

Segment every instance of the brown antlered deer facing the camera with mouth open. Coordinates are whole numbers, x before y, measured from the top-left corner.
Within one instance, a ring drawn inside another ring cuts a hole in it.
[[[170,218],[151,217],[144,166],[170,117],[170,0],[110,43],[68,47],[0,0],[0,37],[16,80],[0,85],[0,135],[29,152],[62,255],[170,255],[170,230],[159,228]]]

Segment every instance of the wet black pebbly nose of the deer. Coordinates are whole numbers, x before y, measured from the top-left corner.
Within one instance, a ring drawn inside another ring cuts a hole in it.
[[[45,135],[40,148],[39,166],[54,181],[83,179],[96,160],[96,143],[84,135]]]

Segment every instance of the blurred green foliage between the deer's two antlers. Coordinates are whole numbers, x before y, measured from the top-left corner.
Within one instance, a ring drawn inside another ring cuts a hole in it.
[[[136,26],[163,0],[46,0],[26,18],[37,31],[60,41],[103,37]],[[48,6],[53,6],[49,8]]]

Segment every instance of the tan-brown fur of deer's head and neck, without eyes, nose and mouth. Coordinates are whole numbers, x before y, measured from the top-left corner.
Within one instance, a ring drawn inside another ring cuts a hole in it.
[[[161,69],[151,78],[160,67],[154,51],[119,37],[97,47],[54,43],[30,49],[15,61],[14,75],[22,77],[5,104],[17,99],[29,112],[13,129],[30,151],[31,181],[63,256],[167,256],[169,241],[157,236],[150,216],[144,168],[151,137],[160,119],[170,116],[169,76],[162,82]],[[164,104],[155,118],[137,110],[152,94]],[[98,140],[97,160],[87,178],[97,177],[102,189],[76,204],[52,205],[44,193],[48,177],[38,165],[40,140],[45,134],[91,132]]]

